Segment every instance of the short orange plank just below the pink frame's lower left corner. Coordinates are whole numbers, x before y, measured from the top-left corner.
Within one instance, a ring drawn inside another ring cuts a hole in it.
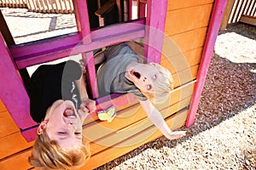
[[[13,133],[0,139],[0,159],[13,155],[20,150],[32,147],[34,142],[27,143],[26,139],[19,133]]]

